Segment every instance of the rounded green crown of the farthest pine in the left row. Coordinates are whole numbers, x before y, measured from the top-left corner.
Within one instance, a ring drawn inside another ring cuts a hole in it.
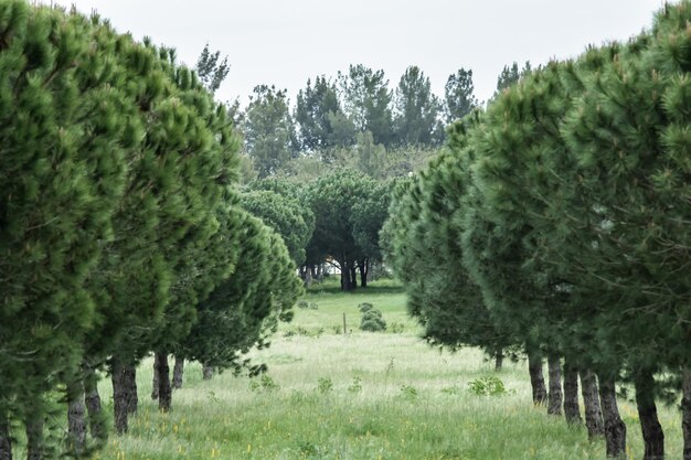
[[[242,355],[266,346],[277,322],[290,320],[301,282],[280,237],[246,212],[233,212],[242,222],[243,242],[235,270],[199,306],[184,353],[206,365],[240,372],[249,366]]]

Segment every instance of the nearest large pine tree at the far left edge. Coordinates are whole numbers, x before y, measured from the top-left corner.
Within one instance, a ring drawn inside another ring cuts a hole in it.
[[[41,451],[43,394],[83,357],[100,322],[89,277],[114,235],[127,156],[140,142],[119,43],[77,13],[0,4],[0,443],[25,419]],[[103,38],[103,41],[96,39]],[[96,42],[96,45],[94,45]],[[119,82],[113,85],[113,82]]]

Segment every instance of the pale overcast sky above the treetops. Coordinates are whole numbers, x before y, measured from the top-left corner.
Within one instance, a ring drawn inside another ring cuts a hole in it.
[[[44,0],[49,2],[50,0]],[[626,40],[649,28],[662,0],[53,0],[93,9],[120,32],[150,36],[193,66],[206,42],[228,56],[219,98],[258,84],[291,100],[317,75],[349,64],[384,69],[395,87],[417,65],[443,96],[458,68],[472,69],[478,99],[489,98],[506,64],[578,55],[587,44]]]

